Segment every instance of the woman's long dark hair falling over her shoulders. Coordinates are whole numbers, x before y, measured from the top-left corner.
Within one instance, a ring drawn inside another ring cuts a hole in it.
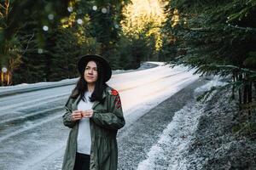
[[[105,90],[105,88],[107,87],[106,82],[104,82],[104,80],[103,80],[104,68],[102,67],[102,64],[100,62],[97,62],[95,60],[89,60],[88,62],[85,63],[84,70],[85,70],[86,65],[90,61],[94,61],[96,63],[97,72],[98,72],[96,86],[94,88],[93,93],[91,94],[90,101],[94,102],[97,100],[97,101],[100,101],[100,103],[102,103],[103,102],[102,94],[103,94],[103,91]],[[71,94],[71,98],[73,98],[73,99],[76,99],[79,96],[81,96],[83,100],[86,100],[84,98],[84,93],[88,91],[88,87],[87,87],[87,82],[84,80],[84,70],[83,70],[83,74],[80,75],[80,77],[79,77],[79,81],[77,82],[76,87],[73,88],[73,91]]]

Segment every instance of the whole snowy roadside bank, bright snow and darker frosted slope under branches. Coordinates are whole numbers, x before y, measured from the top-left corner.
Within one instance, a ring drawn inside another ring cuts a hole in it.
[[[218,77],[195,89],[195,98],[212,86],[222,86]],[[231,133],[236,101],[212,94],[206,104],[191,102],[177,111],[138,170],[256,169],[255,139]]]

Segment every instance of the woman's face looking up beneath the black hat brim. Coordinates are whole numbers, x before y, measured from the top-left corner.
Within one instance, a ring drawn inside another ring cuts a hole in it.
[[[84,80],[88,84],[95,84],[98,78],[97,65],[94,61],[89,61],[85,66]]]

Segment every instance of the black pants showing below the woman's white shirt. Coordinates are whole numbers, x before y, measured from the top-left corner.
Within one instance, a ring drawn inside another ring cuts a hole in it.
[[[77,152],[73,170],[90,170],[90,156]]]

